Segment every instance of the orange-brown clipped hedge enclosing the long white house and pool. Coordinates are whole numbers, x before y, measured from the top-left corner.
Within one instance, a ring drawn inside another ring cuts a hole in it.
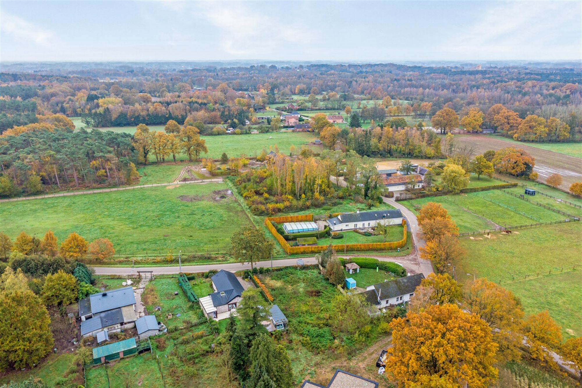
[[[277,232],[271,221],[276,223],[281,222],[301,222],[301,221],[311,221],[313,220],[313,214],[304,214],[297,216],[282,216],[282,217],[267,217],[265,218],[265,226],[271,234],[275,237],[283,251],[286,254],[306,254],[306,253],[318,253],[327,250],[327,245],[317,245],[317,247],[292,247],[289,245],[287,240]],[[388,243],[367,243],[367,244],[337,244],[333,245],[336,251],[346,250],[346,251],[375,251],[375,250],[395,250],[396,248],[402,248],[406,245],[406,220],[402,220],[403,233],[402,240],[400,241],[390,241]]]

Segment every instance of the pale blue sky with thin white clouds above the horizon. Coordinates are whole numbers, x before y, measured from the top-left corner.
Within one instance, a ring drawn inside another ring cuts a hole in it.
[[[0,61],[582,60],[582,1],[6,1]]]

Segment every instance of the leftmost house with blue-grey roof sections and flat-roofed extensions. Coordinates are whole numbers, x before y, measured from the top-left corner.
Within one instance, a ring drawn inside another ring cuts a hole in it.
[[[132,287],[92,294],[79,301],[81,336],[93,337],[102,330],[120,332],[136,322],[136,298]]]

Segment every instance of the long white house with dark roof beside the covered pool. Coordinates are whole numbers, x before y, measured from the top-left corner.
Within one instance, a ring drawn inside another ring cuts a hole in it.
[[[329,228],[338,230],[363,229],[365,227],[383,225],[401,225],[402,213],[398,209],[372,210],[369,212],[343,213],[327,220]]]

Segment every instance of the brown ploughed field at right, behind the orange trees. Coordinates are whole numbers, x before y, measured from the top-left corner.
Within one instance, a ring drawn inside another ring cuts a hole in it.
[[[548,176],[557,172],[562,175],[563,182],[560,187],[565,190],[568,190],[572,183],[582,181],[581,158],[558,154],[558,152],[547,151],[541,148],[530,147],[527,144],[513,144],[491,136],[455,136],[455,140],[459,145],[472,145],[476,154],[482,154],[488,149],[494,149],[497,151],[498,149],[505,147],[522,148],[535,158],[534,171],[540,175],[541,181],[545,181]]]

